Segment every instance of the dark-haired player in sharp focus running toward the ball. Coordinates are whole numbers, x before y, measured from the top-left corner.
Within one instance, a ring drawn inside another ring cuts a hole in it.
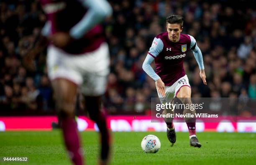
[[[154,38],[143,62],[143,70],[156,81],[156,90],[161,102],[169,97],[178,97],[183,104],[191,104],[191,87],[183,68],[183,62],[189,50],[192,50],[200,68],[200,77],[207,85],[202,52],[194,37],[181,33],[183,20],[180,15],[171,15],[166,18],[167,32]],[[155,60],[156,72],[150,66],[153,60]],[[201,144],[196,136],[195,118],[187,118],[185,121],[189,130],[190,145],[200,148]],[[165,120],[165,122],[167,138],[173,145],[176,142],[173,122],[172,120]]]

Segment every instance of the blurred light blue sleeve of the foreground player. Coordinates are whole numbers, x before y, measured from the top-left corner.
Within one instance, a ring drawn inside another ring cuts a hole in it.
[[[87,13],[70,30],[70,35],[79,39],[105,17],[112,14],[112,7],[106,0],[79,0],[84,7],[88,8]]]

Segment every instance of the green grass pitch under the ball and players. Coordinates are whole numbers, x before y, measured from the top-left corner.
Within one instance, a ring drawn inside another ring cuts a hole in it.
[[[159,137],[161,149],[155,154],[141,150],[145,135]],[[189,146],[188,133],[177,133],[173,147],[166,133],[112,133],[112,165],[251,165],[256,164],[255,133],[197,133],[201,148]],[[88,165],[96,165],[99,150],[97,132],[82,132],[84,154]],[[0,157],[28,157],[27,163],[0,164],[70,165],[61,132],[0,132]]]

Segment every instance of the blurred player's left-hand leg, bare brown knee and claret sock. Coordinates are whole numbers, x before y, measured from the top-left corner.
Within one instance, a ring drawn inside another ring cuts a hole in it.
[[[64,142],[75,165],[83,165],[82,150],[80,148],[77,123],[74,120],[75,96],[77,85],[69,80],[56,79],[52,82],[56,97],[56,108],[61,119]]]

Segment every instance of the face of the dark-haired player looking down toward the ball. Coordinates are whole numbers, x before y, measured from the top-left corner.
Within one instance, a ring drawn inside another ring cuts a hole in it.
[[[174,23],[174,24],[170,24],[168,23],[166,25],[166,29],[168,32],[168,37],[172,42],[178,42],[179,41],[179,36],[180,36],[180,32],[182,32],[182,29],[180,27],[179,24]]]

